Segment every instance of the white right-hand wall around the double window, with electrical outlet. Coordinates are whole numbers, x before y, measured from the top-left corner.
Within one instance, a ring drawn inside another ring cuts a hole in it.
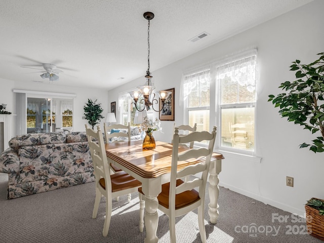
[[[305,212],[306,200],[324,198],[324,153],[299,149],[299,144],[309,143],[314,136],[280,118],[278,108],[267,100],[269,94],[281,92],[278,89],[280,83],[294,79],[294,72],[289,71],[292,61],[300,59],[303,63],[310,63],[317,58],[317,53],[324,51],[323,9],[324,1],[314,1],[152,72],[157,90],[175,88],[175,120],[182,124],[183,107],[179,103],[179,91],[183,71],[257,47],[256,155],[262,160],[259,163],[256,158],[224,153],[220,185],[299,215]],[[109,91],[109,102],[117,101],[118,93],[144,82],[144,77],[140,77]],[[118,110],[116,116],[118,119]],[[173,123],[162,121],[164,134],[157,132],[154,137],[171,141]],[[294,177],[294,187],[286,186],[286,176]]]

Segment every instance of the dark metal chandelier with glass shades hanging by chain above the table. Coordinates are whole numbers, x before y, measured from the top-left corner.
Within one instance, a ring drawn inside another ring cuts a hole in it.
[[[148,20],[148,28],[147,28],[147,45],[148,45],[148,55],[147,55],[147,70],[146,70],[146,83],[145,85],[138,86],[135,91],[128,92],[131,97],[134,99],[135,108],[138,111],[143,111],[145,108],[146,110],[153,109],[154,111],[161,111],[163,109],[163,105],[171,94],[171,92],[166,90],[161,90],[156,92],[158,97],[161,99],[162,105],[161,108],[157,110],[154,108],[153,104],[158,104],[158,100],[155,98],[155,93],[153,90],[155,87],[152,83],[152,75],[150,73],[150,20],[154,18],[154,14],[151,12],[146,12],[143,14],[144,18]],[[153,96],[153,97],[152,97]],[[139,107],[138,107],[139,106]]]

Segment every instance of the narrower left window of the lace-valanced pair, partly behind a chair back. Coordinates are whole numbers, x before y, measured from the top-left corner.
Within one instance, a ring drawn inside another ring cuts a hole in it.
[[[183,95],[187,124],[197,124],[197,131],[209,131],[210,69],[202,69],[184,76]]]

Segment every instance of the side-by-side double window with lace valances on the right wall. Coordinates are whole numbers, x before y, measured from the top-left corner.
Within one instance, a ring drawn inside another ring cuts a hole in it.
[[[252,50],[183,75],[184,124],[196,123],[197,131],[210,131],[216,121],[218,148],[253,153],[256,63],[257,51]]]

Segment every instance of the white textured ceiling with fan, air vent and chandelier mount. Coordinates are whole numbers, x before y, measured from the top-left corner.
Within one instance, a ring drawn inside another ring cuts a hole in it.
[[[130,82],[312,0],[10,0],[0,3],[0,78],[44,82],[37,69],[63,70],[54,85],[103,89]],[[188,40],[206,31],[197,42]],[[120,80],[118,78],[124,77]]]

